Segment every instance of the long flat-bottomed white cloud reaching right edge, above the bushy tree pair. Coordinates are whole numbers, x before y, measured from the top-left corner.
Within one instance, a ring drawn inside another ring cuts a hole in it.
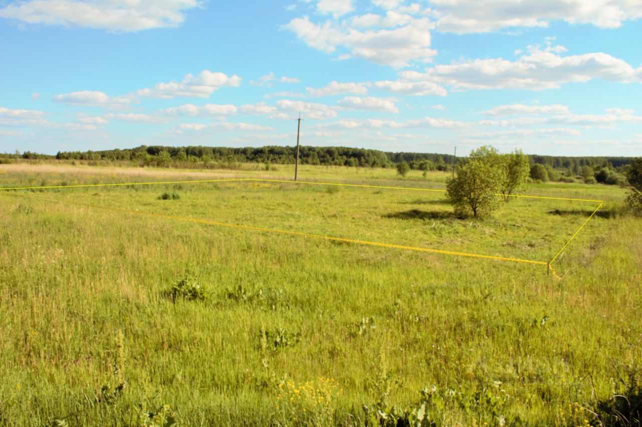
[[[547,45],[529,46],[528,53],[517,61],[503,58],[464,60],[451,65],[435,65],[426,72],[404,71],[403,80],[428,81],[460,89],[558,88],[562,83],[592,79],[642,82],[642,67],[634,69],[621,59],[606,53],[561,56],[560,49]]]

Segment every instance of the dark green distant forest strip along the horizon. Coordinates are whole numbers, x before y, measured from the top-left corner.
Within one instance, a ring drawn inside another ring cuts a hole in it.
[[[55,156],[26,151],[22,154],[4,154],[3,158],[91,160],[110,162],[133,162],[141,166],[170,166],[180,163],[211,164],[221,163],[274,163],[291,164],[295,162],[296,147],[163,147],[141,146],[132,149],[112,149],[104,151],[61,151]],[[541,163],[553,169],[564,169],[579,173],[582,166],[594,169],[609,167],[622,169],[631,157],[590,157],[590,156],[539,156],[528,155],[531,165]],[[351,167],[395,167],[397,163],[407,162],[411,169],[422,171],[446,171],[453,164],[453,155],[437,153],[390,153],[386,151],[351,147],[311,147],[301,146],[299,161],[305,165],[333,165]]]

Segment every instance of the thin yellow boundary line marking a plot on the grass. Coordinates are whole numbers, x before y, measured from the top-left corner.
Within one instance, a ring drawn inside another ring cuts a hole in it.
[[[415,187],[386,187],[383,185],[363,185],[363,184],[343,184],[343,183],[328,183],[328,182],[315,182],[315,181],[288,181],[288,180],[268,180],[268,179],[262,179],[262,178],[230,178],[230,179],[223,179],[223,180],[191,180],[191,181],[155,181],[155,182],[137,182],[137,183],[113,183],[113,184],[78,184],[78,185],[46,185],[46,186],[41,186],[41,187],[13,187],[13,188],[0,188],[0,190],[35,190],[35,189],[44,189],[44,188],[73,188],[73,187],[109,187],[109,186],[123,186],[123,185],[152,185],[152,184],[178,184],[178,183],[204,183],[204,182],[231,182],[231,181],[264,181],[264,182],[280,182],[280,183],[295,183],[295,184],[316,184],[316,185],[341,185],[344,187],[367,187],[367,188],[389,188],[389,189],[395,189],[395,190],[418,190],[418,191],[435,191],[435,192],[446,192],[446,190],[435,190],[431,188],[415,188]],[[474,257],[474,258],[485,258],[485,259],[491,259],[491,260],[501,260],[501,261],[510,261],[510,262],[522,262],[525,264],[538,264],[538,265],[546,265],[546,268],[548,271],[552,272],[553,275],[556,278],[560,278],[560,276],[557,275],[555,270],[551,267],[551,264],[553,261],[557,259],[557,257],[566,249],[566,247],[571,243],[571,240],[575,239],[575,236],[578,235],[580,230],[584,228],[584,226],[589,222],[591,218],[593,218],[593,215],[602,207],[604,202],[602,200],[589,200],[589,199],[573,199],[570,197],[544,197],[544,196],[524,196],[521,194],[496,194],[496,196],[508,196],[508,197],[525,197],[525,198],[530,198],[530,199],[553,199],[553,200],[569,200],[569,201],[586,201],[586,202],[594,202],[594,203],[600,203],[600,205],[591,213],[591,216],[589,216],[586,221],[584,221],[584,224],[580,226],[580,228],[575,231],[575,234],[571,237],[571,239],[566,242],[564,247],[560,249],[560,251],[553,257],[552,260],[549,262],[543,262],[543,261],[534,261],[534,260],[524,260],[521,258],[507,258],[504,256],[492,256],[492,255],[482,255],[482,254],[476,254],[476,253],[466,253],[466,252],[455,252],[455,251],[445,251],[442,249],[428,249],[426,247],[416,247],[416,246],[403,246],[403,245],[396,245],[396,244],[390,244],[390,243],[381,243],[381,242],[369,242],[367,240],[354,240],[354,239],[343,239],[342,237],[331,237],[331,236],[324,236],[324,235],[317,235],[317,234],[309,234],[309,233],[298,233],[296,231],[284,231],[284,230],[274,230],[272,228],[261,228],[261,227],[253,227],[253,226],[244,226],[244,225],[238,225],[238,224],[227,224],[225,222],[216,222],[216,221],[209,221],[207,219],[196,219],[196,218],[189,218],[189,217],[177,217],[174,215],[163,215],[162,213],[151,213],[151,212],[140,212],[140,211],[135,211],[135,210],[129,210],[129,209],[122,209],[122,208],[111,208],[108,206],[96,206],[96,205],[86,205],[83,203],[76,203],[76,202],[65,202],[61,200],[55,200],[55,199],[44,199],[42,197],[30,197],[33,199],[39,199],[39,200],[45,200],[45,201],[53,201],[53,202],[58,202],[58,203],[69,203],[71,205],[77,205],[77,206],[85,206],[89,208],[100,208],[100,209],[106,209],[106,210],[114,210],[116,212],[125,212],[125,213],[134,213],[136,215],[148,215],[152,217],[159,217],[159,218],[168,218],[168,219],[175,219],[178,221],[187,221],[187,222],[197,222],[200,224],[209,224],[209,225],[216,225],[216,226],[223,226],[223,227],[230,227],[230,228],[239,228],[243,230],[253,230],[253,231],[266,231],[270,233],[281,233],[281,234],[286,234],[286,235],[295,235],[295,236],[300,236],[300,237],[311,237],[315,239],[325,239],[325,240],[333,240],[337,242],[347,242],[347,243],[354,243],[354,244],[363,244],[363,245],[370,245],[370,246],[383,246],[383,247],[392,247],[394,249],[406,249],[406,250],[411,250],[411,251],[421,251],[421,252],[429,252],[429,253],[439,253],[439,254],[444,254],[444,255],[457,255],[457,256],[469,256],[469,257]]]

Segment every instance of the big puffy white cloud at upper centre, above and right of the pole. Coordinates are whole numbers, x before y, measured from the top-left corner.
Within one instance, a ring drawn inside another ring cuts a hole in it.
[[[350,56],[363,58],[380,65],[406,67],[412,62],[430,62],[437,51],[430,49],[433,23],[427,18],[412,19],[394,29],[361,31],[337,22],[316,24],[308,16],[292,19],[283,28],[295,33],[304,43],[325,53],[337,47],[350,51]],[[342,54],[340,58],[347,58]]]

